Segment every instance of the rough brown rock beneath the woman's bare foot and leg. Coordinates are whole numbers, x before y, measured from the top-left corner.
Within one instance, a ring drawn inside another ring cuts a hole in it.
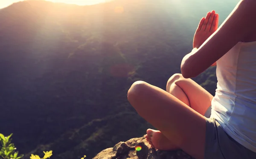
[[[140,151],[135,147],[141,146]],[[193,159],[182,150],[162,151],[151,148],[145,136],[119,142],[113,148],[107,148],[98,153],[93,159]]]

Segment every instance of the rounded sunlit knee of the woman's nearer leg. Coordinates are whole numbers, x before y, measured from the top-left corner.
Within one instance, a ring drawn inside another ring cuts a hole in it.
[[[137,98],[140,98],[140,95],[143,95],[147,89],[148,83],[144,81],[136,81],[131,85],[131,88],[128,90],[127,98],[128,101],[131,103],[131,101],[136,100]]]

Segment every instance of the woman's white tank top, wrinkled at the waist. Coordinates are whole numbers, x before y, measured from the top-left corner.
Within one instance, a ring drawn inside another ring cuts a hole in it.
[[[239,42],[217,61],[211,118],[256,152],[256,41]]]

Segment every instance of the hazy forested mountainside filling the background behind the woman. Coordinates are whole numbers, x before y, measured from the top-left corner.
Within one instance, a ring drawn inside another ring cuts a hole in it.
[[[127,101],[131,84],[165,89],[201,17],[216,10],[221,23],[237,2],[27,0],[1,9],[0,132],[14,133],[20,153],[49,149],[53,159],[92,158],[142,136],[151,125]],[[215,67],[194,80],[214,95]]]

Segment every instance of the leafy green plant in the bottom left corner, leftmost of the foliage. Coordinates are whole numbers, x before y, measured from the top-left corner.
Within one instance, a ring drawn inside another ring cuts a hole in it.
[[[18,155],[16,147],[12,142],[11,135],[4,136],[0,133],[0,159],[20,159],[24,155]]]

